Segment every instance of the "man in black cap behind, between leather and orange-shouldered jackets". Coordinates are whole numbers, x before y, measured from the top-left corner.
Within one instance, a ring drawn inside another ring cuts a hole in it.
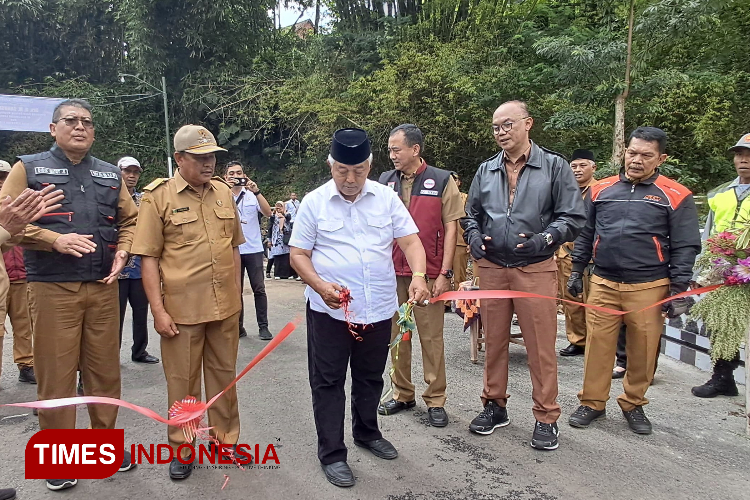
[[[573,157],[570,159],[570,168],[581,189],[581,196],[586,197],[589,188],[596,184],[594,172],[596,171],[596,162],[594,153],[586,149],[576,149],[573,151]],[[569,241],[560,245],[557,250],[557,284],[560,288],[560,297],[573,300],[575,302],[586,303],[589,293],[588,276],[583,280],[583,294],[573,296],[568,293],[565,284],[570,278],[573,271],[573,242]],[[588,275],[588,272],[586,272]],[[565,311],[565,333],[568,335],[568,347],[560,349],[560,356],[582,356],[586,351],[586,308],[579,305],[563,302]]]

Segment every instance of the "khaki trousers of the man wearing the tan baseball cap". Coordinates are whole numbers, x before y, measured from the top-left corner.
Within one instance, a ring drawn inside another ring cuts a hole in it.
[[[167,379],[169,408],[175,401],[182,401],[187,396],[201,400],[201,368],[206,386],[206,401],[234,380],[239,318],[240,312],[237,311],[219,321],[177,325],[180,332],[178,335],[161,338],[161,359]],[[222,444],[237,444],[240,437],[240,414],[236,386],[209,408],[208,425],[212,427],[211,435]],[[167,435],[175,456],[181,444],[191,444],[179,427],[169,426]],[[183,457],[188,454],[189,450],[182,450]]]

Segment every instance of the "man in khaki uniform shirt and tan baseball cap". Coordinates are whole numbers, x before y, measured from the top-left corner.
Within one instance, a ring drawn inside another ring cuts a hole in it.
[[[185,125],[174,137],[179,170],[145,188],[133,253],[141,270],[154,327],[161,339],[168,403],[186,396],[201,399],[201,365],[206,400],[235,377],[240,315],[240,253],[245,242],[232,191],[213,177],[214,136],[205,128]],[[208,410],[211,434],[222,444],[236,444],[240,434],[237,392],[232,387]],[[175,451],[185,436],[170,426]],[[188,443],[190,444],[190,443]],[[183,457],[189,451],[182,450]],[[175,458],[172,479],[185,479],[192,463]]]

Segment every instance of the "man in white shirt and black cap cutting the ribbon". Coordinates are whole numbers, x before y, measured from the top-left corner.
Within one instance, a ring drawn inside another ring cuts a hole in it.
[[[336,131],[328,164],[333,179],[302,200],[289,246],[292,266],[308,283],[307,359],[318,459],[328,481],[346,487],[354,485],[344,445],[348,364],[354,444],[379,458],[398,456],[377,420],[390,321],[398,309],[394,240],[415,271],[409,301],[427,304],[430,291],[416,224],[392,189],[367,179],[372,164],[367,133]],[[352,298],[348,317],[339,296],[344,288]]]

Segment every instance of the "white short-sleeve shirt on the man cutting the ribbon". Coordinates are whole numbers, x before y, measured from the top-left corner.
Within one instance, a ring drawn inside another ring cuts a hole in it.
[[[302,200],[289,246],[312,250],[318,276],[351,290],[353,322],[370,324],[398,310],[394,239],[417,232],[393,189],[368,179],[350,202],[330,180]],[[305,297],[314,311],[344,320],[342,309],[328,307],[309,286]]]

